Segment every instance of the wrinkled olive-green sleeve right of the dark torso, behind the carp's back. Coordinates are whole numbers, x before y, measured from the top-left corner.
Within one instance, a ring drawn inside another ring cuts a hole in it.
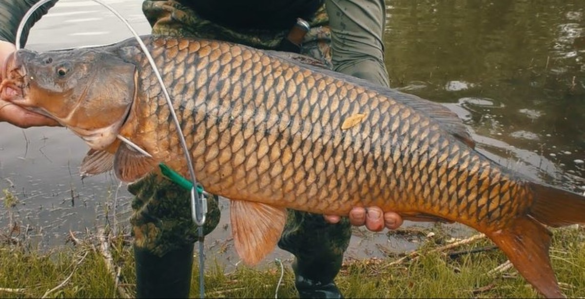
[[[384,0],[326,0],[333,69],[389,86],[384,64]]]

